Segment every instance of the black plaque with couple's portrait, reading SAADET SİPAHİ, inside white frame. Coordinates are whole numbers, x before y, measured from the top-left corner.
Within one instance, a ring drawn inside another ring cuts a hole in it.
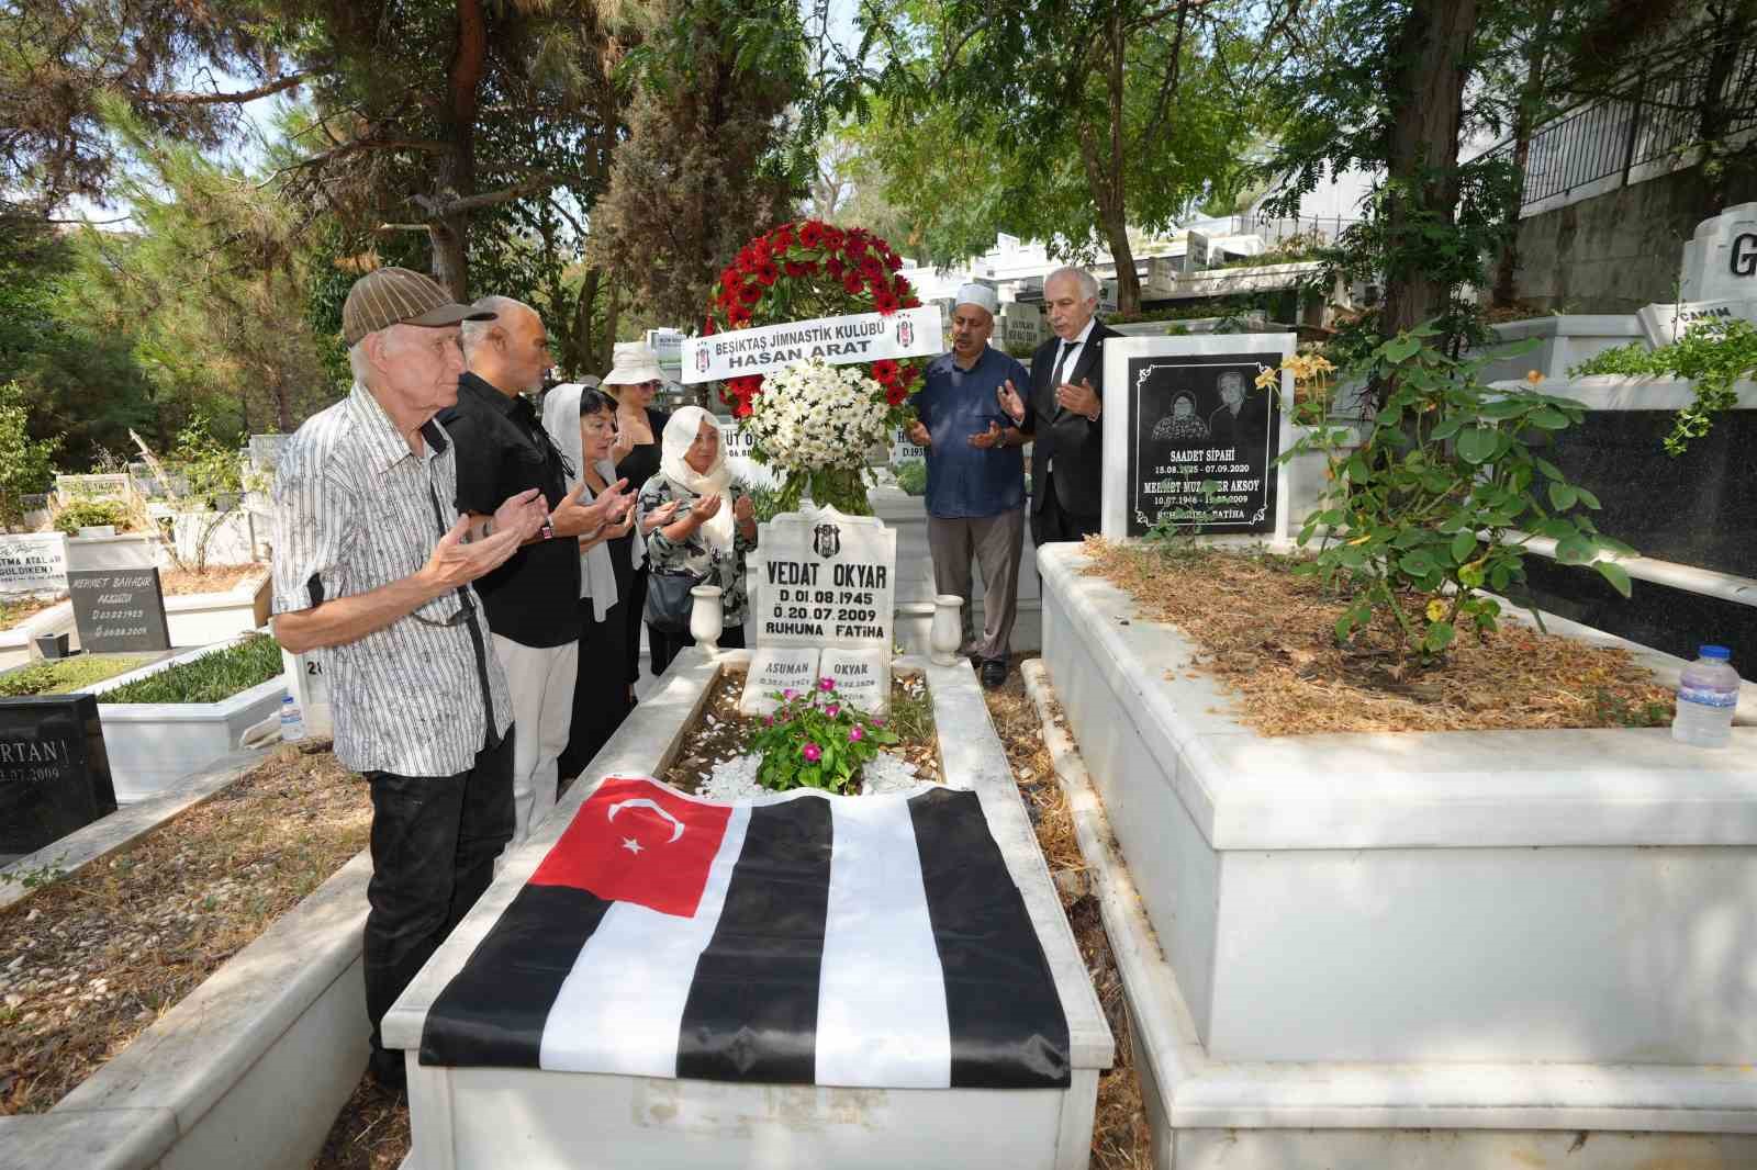
[[[1216,536],[1276,529],[1281,395],[1256,376],[1281,353],[1128,360],[1128,534],[1160,520]]]

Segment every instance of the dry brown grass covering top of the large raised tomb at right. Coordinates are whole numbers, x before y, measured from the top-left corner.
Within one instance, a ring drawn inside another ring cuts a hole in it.
[[[1167,557],[1089,539],[1088,573],[1197,643],[1197,666],[1233,692],[1233,713],[1267,736],[1328,731],[1615,727],[1673,696],[1623,650],[1502,622],[1460,634],[1441,668],[1402,662],[1390,620],[1335,645],[1348,608],[1290,557],[1205,550]],[[1411,608],[1420,610],[1421,603]]]

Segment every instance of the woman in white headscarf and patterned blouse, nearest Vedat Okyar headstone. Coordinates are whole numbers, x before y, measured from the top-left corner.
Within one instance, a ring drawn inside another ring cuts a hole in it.
[[[648,518],[664,520],[647,536],[647,643],[652,673],[662,675],[689,636],[689,589],[719,585],[726,627],[720,645],[745,645],[745,553],[757,546],[757,520],[750,495],[726,469],[720,425],[699,406],[671,415],[661,436],[659,474],[641,487],[634,506],[641,531]]]

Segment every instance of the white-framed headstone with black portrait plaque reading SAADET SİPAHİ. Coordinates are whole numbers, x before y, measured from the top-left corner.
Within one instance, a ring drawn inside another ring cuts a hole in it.
[[[1293,353],[1291,334],[1119,337],[1105,344],[1109,390],[1103,536],[1146,536],[1156,524],[1204,536],[1288,532],[1290,441],[1283,394],[1256,378]],[[1281,378],[1291,381],[1290,376]]]

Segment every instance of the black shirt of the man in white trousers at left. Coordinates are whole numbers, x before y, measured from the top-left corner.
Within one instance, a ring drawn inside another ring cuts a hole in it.
[[[504,395],[466,372],[457,406],[439,422],[457,446],[457,509],[492,516],[506,497],[541,488],[553,509],[568,495],[568,469],[524,395]],[[488,629],[525,646],[560,646],[580,636],[580,541],[557,536],[525,545],[476,581]]]

